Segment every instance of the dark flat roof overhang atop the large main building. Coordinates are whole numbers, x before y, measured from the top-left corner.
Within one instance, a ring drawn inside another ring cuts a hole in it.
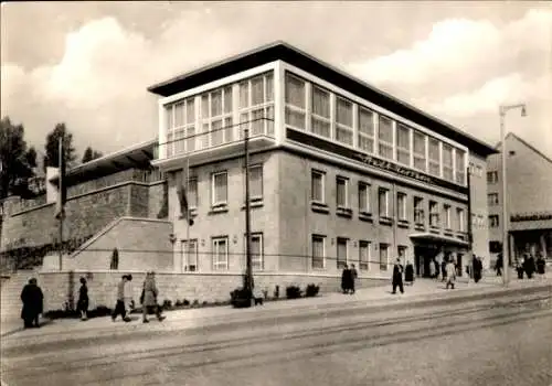
[[[148,92],[167,97],[278,60],[326,79],[342,89],[370,100],[444,137],[450,138],[479,156],[488,157],[498,152],[493,147],[463,130],[282,41],[158,83],[148,87]]]

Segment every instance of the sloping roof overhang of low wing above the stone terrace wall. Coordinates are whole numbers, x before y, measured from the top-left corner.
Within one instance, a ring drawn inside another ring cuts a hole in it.
[[[65,181],[67,185],[74,185],[130,168],[149,169],[156,146],[157,139],[149,140],[79,164],[65,173]],[[57,185],[59,175],[50,181]]]

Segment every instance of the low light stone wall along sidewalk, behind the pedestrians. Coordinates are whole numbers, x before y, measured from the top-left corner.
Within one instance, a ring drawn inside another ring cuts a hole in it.
[[[88,285],[89,309],[104,305],[115,307],[117,298],[117,283],[123,275],[132,275],[134,300],[139,304],[141,287],[146,277],[145,272],[132,271],[66,271],[40,272],[39,286],[44,292],[44,311],[55,311],[75,308],[78,300],[79,278],[85,277]],[[158,272],[157,287],[159,289],[158,302],[170,300],[172,304],[187,299],[190,302],[229,301],[230,292],[242,286],[242,275],[233,274],[172,274]],[[268,297],[274,296],[276,286],[279,286],[279,297],[286,297],[286,287],[299,286],[305,294],[307,285],[320,286],[320,293],[340,291],[341,278],[331,276],[312,275],[282,275],[255,274],[255,290],[268,291]],[[357,288],[376,287],[386,285],[388,280],[359,278]]]

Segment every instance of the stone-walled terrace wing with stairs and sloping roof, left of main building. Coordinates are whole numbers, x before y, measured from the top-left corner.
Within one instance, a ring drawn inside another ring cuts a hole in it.
[[[137,253],[130,251],[132,248],[152,249],[151,246],[156,246],[170,253],[172,224],[167,222],[167,182],[150,164],[156,146],[157,140],[139,143],[67,171],[63,229],[66,268],[109,269],[116,247],[126,249],[119,254],[121,268],[159,267],[157,262],[137,264],[140,259]],[[49,168],[47,172],[46,178],[31,184],[38,193],[35,199],[10,196],[2,203],[2,270],[40,267],[46,256],[57,254],[57,169]],[[149,229],[145,234],[150,237],[142,238],[144,243],[150,243],[149,248],[146,244],[142,247],[136,244],[132,234],[138,235],[139,228]],[[123,235],[129,229],[132,229],[130,237],[114,239],[114,233]],[[164,244],[153,240],[159,235]],[[172,254],[167,253],[164,259],[170,261],[172,270]],[[54,258],[54,261],[57,260]]]

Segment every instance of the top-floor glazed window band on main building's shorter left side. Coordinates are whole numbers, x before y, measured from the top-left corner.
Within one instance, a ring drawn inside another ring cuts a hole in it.
[[[242,139],[245,128],[250,136],[274,135],[273,74],[178,100],[164,111],[167,157]]]

